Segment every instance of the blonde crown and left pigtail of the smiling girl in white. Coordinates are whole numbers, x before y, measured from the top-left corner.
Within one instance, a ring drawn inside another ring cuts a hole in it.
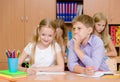
[[[54,23],[53,20],[50,19],[43,19],[41,20],[41,22],[39,23],[39,25],[36,27],[34,34],[33,34],[33,38],[32,38],[32,43],[33,43],[33,47],[32,47],[32,53],[30,55],[30,64],[34,63],[34,59],[35,59],[35,48],[36,48],[36,44],[39,41],[39,31],[41,30],[42,27],[47,26],[48,28],[52,28],[54,31],[56,31],[56,25]],[[55,42],[53,41],[52,43],[54,45],[55,48]]]

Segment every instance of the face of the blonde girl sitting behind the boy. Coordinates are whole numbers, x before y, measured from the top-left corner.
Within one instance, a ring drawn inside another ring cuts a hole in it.
[[[95,31],[97,33],[101,33],[105,28],[106,22],[104,20],[101,20],[100,22],[95,23]]]

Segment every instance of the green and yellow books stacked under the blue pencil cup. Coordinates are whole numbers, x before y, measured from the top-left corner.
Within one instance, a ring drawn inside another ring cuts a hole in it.
[[[26,77],[27,73],[22,71],[11,73],[9,72],[9,70],[0,70],[0,76],[5,78],[22,78],[22,77]]]

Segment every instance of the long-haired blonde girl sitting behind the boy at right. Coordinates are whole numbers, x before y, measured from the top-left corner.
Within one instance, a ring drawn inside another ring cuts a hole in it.
[[[113,61],[113,63],[108,63],[108,64],[111,64],[112,66],[108,65],[109,66],[109,69],[110,70],[116,70],[116,62],[115,60],[113,59],[113,57],[117,56],[117,52],[115,50],[115,47],[111,41],[111,38],[110,38],[110,35],[108,34],[108,22],[107,22],[107,18],[106,16],[104,16],[102,13],[96,13],[94,16],[93,16],[93,19],[94,19],[94,22],[95,22],[95,26],[94,26],[94,34],[99,36],[103,42],[104,42],[104,47],[106,49],[106,58],[109,59],[108,57],[110,57],[111,59],[110,60],[107,60],[106,62],[108,61]],[[115,65],[115,66],[113,66]],[[111,68],[112,67],[112,68]]]

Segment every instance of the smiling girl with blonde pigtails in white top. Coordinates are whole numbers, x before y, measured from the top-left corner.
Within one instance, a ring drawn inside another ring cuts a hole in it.
[[[43,19],[35,29],[33,41],[28,43],[19,57],[18,69],[28,74],[38,71],[64,71],[60,46],[54,41],[56,26],[52,20]],[[29,57],[30,68],[21,64]]]

